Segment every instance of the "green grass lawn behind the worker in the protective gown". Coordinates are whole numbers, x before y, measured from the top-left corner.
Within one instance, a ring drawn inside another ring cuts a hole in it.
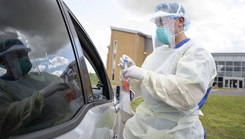
[[[131,102],[132,110],[143,98]],[[202,107],[204,116],[200,120],[206,130],[207,139],[245,138],[245,97],[210,95]]]

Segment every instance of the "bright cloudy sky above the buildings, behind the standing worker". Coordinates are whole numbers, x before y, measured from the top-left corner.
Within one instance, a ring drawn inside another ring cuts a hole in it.
[[[172,1],[172,0],[166,0]],[[64,0],[87,31],[106,63],[111,28],[152,35],[155,5],[163,0]],[[244,0],[176,0],[191,21],[186,35],[208,51],[245,52]]]

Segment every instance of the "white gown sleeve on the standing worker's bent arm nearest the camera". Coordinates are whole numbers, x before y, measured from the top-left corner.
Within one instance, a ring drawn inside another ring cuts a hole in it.
[[[142,85],[154,98],[181,111],[188,111],[198,105],[212,86],[216,68],[210,53],[195,49],[180,58],[174,75],[147,70],[143,74]]]

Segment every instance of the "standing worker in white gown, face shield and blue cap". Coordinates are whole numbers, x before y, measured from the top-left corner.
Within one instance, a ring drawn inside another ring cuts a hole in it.
[[[127,55],[120,58],[123,76],[144,101],[125,125],[124,139],[203,139],[199,110],[216,76],[212,55],[188,38],[190,21],[182,5],[160,3],[151,20],[156,24],[154,51],[142,67]],[[124,69],[124,59],[128,68]]]

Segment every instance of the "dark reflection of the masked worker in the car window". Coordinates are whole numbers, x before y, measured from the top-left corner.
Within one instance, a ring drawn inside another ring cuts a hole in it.
[[[32,72],[30,48],[18,39],[0,43],[0,136],[57,125],[71,117],[62,78]]]

